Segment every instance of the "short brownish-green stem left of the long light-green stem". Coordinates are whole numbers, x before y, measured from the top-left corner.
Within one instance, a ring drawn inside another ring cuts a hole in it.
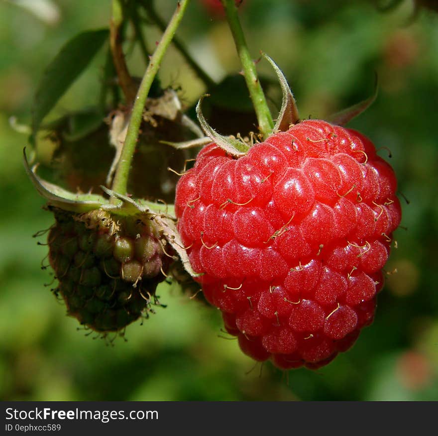
[[[123,24],[123,6],[121,0],[112,0],[111,22],[109,25],[109,45],[112,61],[126,104],[131,105],[135,98],[136,88],[126,66],[121,45],[120,27]]]

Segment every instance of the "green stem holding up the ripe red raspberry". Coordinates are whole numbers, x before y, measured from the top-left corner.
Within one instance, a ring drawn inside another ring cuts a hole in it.
[[[221,0],[225,8],[226,18],[229,28],[234,38],[237,53],[242,64],[243,76],[245,77],[246,86],[257,115],[260,133],[266,139],[274,128],[274,121],[268,108],[263,89],[257,77],[255,64],[249,54],[249,49],[245,41],[242,26],[240,25],[237,14],[237,7],[234,0]]]

